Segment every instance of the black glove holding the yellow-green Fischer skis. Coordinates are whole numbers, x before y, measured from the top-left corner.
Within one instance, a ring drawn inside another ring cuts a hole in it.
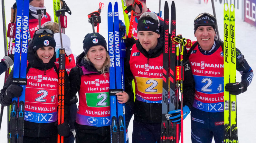
[[[247,90],[247,84],[244,81],[241,83],[227,83],[225,89],[232,95],[238,95]]]

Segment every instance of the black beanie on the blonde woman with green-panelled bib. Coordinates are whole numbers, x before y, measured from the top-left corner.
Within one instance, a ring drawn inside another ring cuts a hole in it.
[[[87,55],[90,47],[97,46],[97,45],[102,45],[108,52],[107,42],[105,38],[101,36],[99,33],[96,33],[96,32],[88,33],[86,36],[84,36],[83,51],[85,55]]]

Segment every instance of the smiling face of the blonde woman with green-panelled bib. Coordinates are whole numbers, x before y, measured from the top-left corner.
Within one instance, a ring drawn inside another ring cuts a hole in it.
[[[88,59],[97,70],[101,70],[106,60],[106,49],[102,45],[90,47],[87,53]]]

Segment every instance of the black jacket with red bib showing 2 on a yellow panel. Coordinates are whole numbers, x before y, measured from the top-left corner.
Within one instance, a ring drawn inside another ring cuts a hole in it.
[[[125,83],[130,83],[135,79],[136,100],[134,102],[133,111],[135,115],[134,118],[140,122],[161,123],[163,39],[163,34],[160,34],[156,48],[148,52],[143,49],[139,41],[137,41],[137,44],[134,44],[131,49],[127,50]],[[185,59],[184,61],[186,61],[184,65],[187,64],[189,67],[186,71],[184,70],[184,105],[191,108],[194,101],[194,80],[189,62]],[[150,73],[151,75],[149,75]],[[159,85],[156,85],[156,82],[157,84],[159,83]],[[153,85],[156,86],[152,88]],[[126,84],[125,89],[126,91],[131,90],[131,85]],[[150,94],[150,91],[154,91],[152,93],[155,94]]]

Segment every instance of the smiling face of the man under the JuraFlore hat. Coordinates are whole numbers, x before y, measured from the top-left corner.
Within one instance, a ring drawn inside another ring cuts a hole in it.
[[[212,49],[215,30],[211,26],[199,26],[195,31],[195,37],[204,51]]]

